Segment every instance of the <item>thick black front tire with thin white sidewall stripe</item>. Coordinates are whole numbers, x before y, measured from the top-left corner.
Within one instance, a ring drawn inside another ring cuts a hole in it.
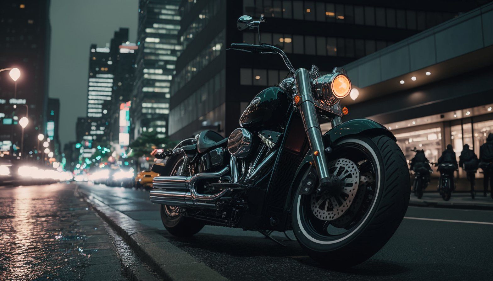
[[[302,186],[303,177],[300,177],[295,182],[298,188],[293,196],[291,220],[298,242],[310,257],[328,268],[351,267],[367,260],[382,249],[404,218],[411,191],[409,170],[399,146],[385,135],[344,138],[338,140],[332,147],[333,152],[327,159],[328,162],[333,159],[332,157],[350,160],[354,157],[352,162],[356,163],[358,157],[352,155],[356,155],[358,150],[362,155],[368,156],[368,165],[376,171],[372,187],[364,186],[366,189],[363,193],[367,198],[371,197],[370,201],[364,201],[355,210],[360,212],[360,215],[354,218],[359,219],[355,219],[352,225],[346,224],[340,228],[347,230],[345,233],[323,235],[323,231],[316,230],[316,226],[319,229],[318,225],[322,223],[325,225],[327,222],[322,219],[319,219],[322,222],[316,220],[318,218],[311,209],[313,201],[306,203],[310,194],[305,195],[300,192],[305,188]],[[338,157],[338,154],[341,157]],[[363,165],[358,167],[360,176]],[[359,184],[359,187],[361,185]],[[368,188],[373,190],[373,195]],[[354,202],[356,201],[357,199],[354,199]],[[329,227],[330,229],[336,227],[331,226],[330,221],[328,223],[325,233],[329,231]]]

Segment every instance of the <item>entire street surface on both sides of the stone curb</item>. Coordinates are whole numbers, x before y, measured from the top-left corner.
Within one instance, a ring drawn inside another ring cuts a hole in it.
[[[375,256],[351,269],[334,271],[322,268],[282,233],[275,237],[286,247],[259,233],[215,226],[178,239],[164,230],[159,206],[150,203],[148,190],[72,183],[0,187],[0,280],[125,279],[120,269],[128,266],[128,259],[112,250],[116,245],[112,230],[81,195],[97,198],[148,226],[142,229],[143,236],[159,229],[165,240],[228,280],[491,277],[493,211],[409,207],[397,232]],[[288,236],[294,238],[292,232]]]

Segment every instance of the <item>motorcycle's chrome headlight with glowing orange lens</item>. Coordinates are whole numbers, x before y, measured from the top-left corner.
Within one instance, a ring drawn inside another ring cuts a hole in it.
[[[315,94],[324,103],[333,105],[351,92],[351,80],[343,68],[334,68],[332,73],[322,75],[313,82]]]

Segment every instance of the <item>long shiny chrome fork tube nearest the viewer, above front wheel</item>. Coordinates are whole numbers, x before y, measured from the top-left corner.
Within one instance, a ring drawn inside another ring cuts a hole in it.
[[[318,124],[317,112],[315,111],[314,100],[312,96],[312,87],[310,87],[310,75],[305,68],[299,68],[294,73],[294,82],[296,91],[300,96],[299,108],[303,125],[308,136],[308,143],[312,150],[313,160],[317,174],[320,177],[320,183],[330,185],[330,174],[328,172],[327,161],[325,159],[325,147],[322,140],[322,132]]]

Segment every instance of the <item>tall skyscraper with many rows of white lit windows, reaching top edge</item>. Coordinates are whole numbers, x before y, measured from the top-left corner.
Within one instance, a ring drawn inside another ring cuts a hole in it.
[[[171,79],[175,72],[180,29],[179,0],[140,0],[137,72],[131,118],[142,131],[167,134]]]

